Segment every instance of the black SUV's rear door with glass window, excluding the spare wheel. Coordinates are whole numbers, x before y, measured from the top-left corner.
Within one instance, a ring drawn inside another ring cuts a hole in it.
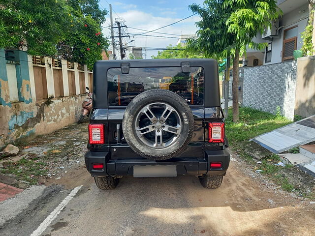
[[[194,116],[194,133],[189,147],[181,157],[203,157],[204,144],[204,77],[202,67],[190,67],[183,73],[181,67],[130,68],[123,74],[121,68],[107,71],[109,149],[112,159],[142,159],[126,143],[122,120],[129,102],[149,89],[168,89],[183,97]]]

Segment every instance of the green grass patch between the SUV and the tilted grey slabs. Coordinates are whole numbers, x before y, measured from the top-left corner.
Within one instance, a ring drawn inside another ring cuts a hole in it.
[[[254,170],[262,170],[263,175],[270,177],[284,190],[292,191],[294,186],[289,182],[289,179],[282,174],[282,170],[293,168],[293,166],[276,166],[275,164],[281,161],[280,156],[273,153],[270,154],[269,151],[264,152],[267,154],[263,154],[261,151],[263,148],[260,148],[257,151],[260,155],[259,158],[261,158],[260,160],[262,161],[262,163],[257,166],[256,160],[253,157],[255,150],[252,148],[252,142],[249,141],[258,135],[290,124],[292,121],[280,116],[279,114],[273,115],[267,112],[254,110],[252,108],[242,107],[239,111],[239,123],[232,122],[232,109],[229,109],[228,117],[225,120],[226,136],[228,138],[230,148],[246,162],[255,165]]]

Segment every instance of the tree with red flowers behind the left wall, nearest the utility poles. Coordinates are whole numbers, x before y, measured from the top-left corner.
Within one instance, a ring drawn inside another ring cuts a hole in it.
[[[106,10],[101,10],[98,0],[68,0],[70,7],[70,27],[58,43],[58,55],[63,59],[85,63],[89,68],[102,59],[109,41],[101,32]]]

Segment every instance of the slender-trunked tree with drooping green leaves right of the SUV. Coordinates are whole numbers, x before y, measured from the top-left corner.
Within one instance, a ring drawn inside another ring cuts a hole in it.
[[[252,39],[282,12],[276,0],[205,0],[203,6],[189,7],[201,17],[196,24],[199,38],[189,40],[190,50],[233,58],[233,121],[238,122],[239,58],[246,54],[247,46],[259,50],[266,47],[266,43]]]

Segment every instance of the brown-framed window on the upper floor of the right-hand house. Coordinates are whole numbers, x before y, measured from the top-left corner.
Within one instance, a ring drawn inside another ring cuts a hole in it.
[[[282,61],[293,60],[293,51],[296,50],[297,45],[297,28],[293,26],[284,30],[284,45],[282,50]]]

